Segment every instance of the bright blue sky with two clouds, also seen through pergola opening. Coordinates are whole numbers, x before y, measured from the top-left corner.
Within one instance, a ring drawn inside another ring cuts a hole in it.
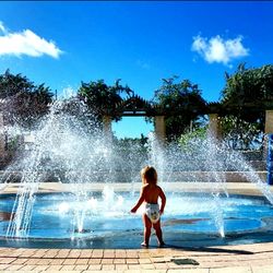
[[[270,1],[1,1],[0,73],[9,68],[59,97],[81,81],[121,79],[146,99],[176,74],[215,102],[225,71],[273,63],[272,25]],[[153,127],[123,118],[112,129],[139,136]]]

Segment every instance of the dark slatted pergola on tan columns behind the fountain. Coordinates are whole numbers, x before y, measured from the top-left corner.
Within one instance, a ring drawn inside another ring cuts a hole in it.
[[[221,117],[226,115],[236,115],[238,110],[245,109],[247,111],[264,111],[265,112],[265,133],[273,133],[273,103],[257,102],[257,103],[244,103],[244,104],[226,104],[223,103],[207,103],[203,107],[192,109],[192,111],[199,115],[207,115],[210,119],[209,131],[216,138],[222,138],[221,130]],[[189,110],[190,111],[190,110]],[[185,109],[181,110],[185,112]],[[154,117],[155,120],[155,134],[158,141],[162,143],[166,140],[166,127],[165,117],[179,115],[179,109],[163,108],[159,105],[151,104],[144,98],[133,95],[129,98],[122,99],[120,104],[116,106],[117,116],[120,117]],[[111,114],[104,114],[104,132],[106,135],[111,135]]]

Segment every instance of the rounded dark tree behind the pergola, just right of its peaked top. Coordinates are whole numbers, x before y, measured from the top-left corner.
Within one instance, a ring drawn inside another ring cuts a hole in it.
[[[163,84],[155,92],[153,103],[157,104],[165,115],[166,136],[179,139],[181,134],[200,126],[200,115],[206,103],[201,96],[198,84],[189,80],[177,82],[178,76],[163,79]]]

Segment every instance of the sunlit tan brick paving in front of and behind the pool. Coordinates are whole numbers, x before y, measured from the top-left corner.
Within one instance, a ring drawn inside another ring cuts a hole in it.
[[[46,183],[40,186],[39,191],[66,191],[66,187]],[[120,189],[123,187],[117,186]],[[177,189],[181,187],[178,183],[174,185]],[[200,185],[198,189],[200,187],[210,188],[207,185]],[[185,183],[182,190],[186,188],[192,190],[192,185]],[[14,192],[15,189],[16,185],[9,185],[2,188],[1,193]],[[233,193],[259,194],[256,187],[250,183],[228,183],[227,189]],[[138,250],[0,248],[0,271],[273,273],[273,242]]]

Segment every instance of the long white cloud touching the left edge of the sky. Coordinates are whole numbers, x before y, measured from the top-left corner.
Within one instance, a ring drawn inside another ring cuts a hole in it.
[[[48,55],[52,58],[59,58],[62,52],[54,41],[48,41],[39,37],[29,29],[21,33],[7,32],[2,22],[0,22],[0,56],[11,55],[21,57],[22,55],[31,57],[41,57]]]

